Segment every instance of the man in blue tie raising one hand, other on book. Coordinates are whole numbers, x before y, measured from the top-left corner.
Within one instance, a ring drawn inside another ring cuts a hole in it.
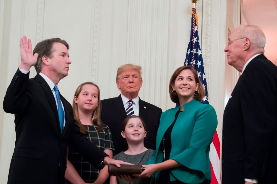
[[[125,163],[110,159],[86,140],[75,125],[70,103],[58,91],[71,63],[66,41],[46,39],[32,52],[31,40],[23,36],[20,49],[21,64],[3,102],[5,112],[15,116],[16,132],[8,183],[64,183],[68,144],[99,169]],[[38,74],[29,79],[34,65]]]

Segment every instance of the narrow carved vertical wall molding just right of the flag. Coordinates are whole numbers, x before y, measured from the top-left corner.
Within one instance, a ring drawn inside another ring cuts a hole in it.
[[[204,61],[205,77],[210,91],[210,67],[211,67],[211,0],[203,1],[202,14],[202,56]]]

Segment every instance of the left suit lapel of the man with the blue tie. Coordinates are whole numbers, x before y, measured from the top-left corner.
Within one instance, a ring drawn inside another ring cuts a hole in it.
[[[54,98],[54,95],[49,87],[49,85],[47,84],[47,82],[42,78],[42,76],[40,76],[39,74],[37,74],[35,76],[35,80],[37,82],[40,83],[40,85],[42,86],[42,89],[44,90],[45,94],[46,94],[46,97],[48,99],[48,102],[53,110],[53,113],[55,114],[55,117],[56,117],[56,124],[60,130],[60,124],[59,124],[59,115],[58,115],[58,109],[57,109],[57,105],[56,105],[56,101],[55,101],[55,98]]]

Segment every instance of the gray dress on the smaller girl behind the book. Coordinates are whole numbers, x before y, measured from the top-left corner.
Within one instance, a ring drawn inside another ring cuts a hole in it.
[[[114,156],[114,159],[123,160],[124,162],[133,163],[135,165],[143,165],[148,161],[148,159],[153,155],[153,153],[154,150],[152,149],[148,149],[138,155],[127,155],[124,153],[124,151],[121,151],[120,153]],[[116,180],[118,184],[129,184],[129,182],[127,182],[126,180],[118,179],[118,177],[116,178]],[[151,178],[139,178],[130,184],[149,184],[150,181]]]

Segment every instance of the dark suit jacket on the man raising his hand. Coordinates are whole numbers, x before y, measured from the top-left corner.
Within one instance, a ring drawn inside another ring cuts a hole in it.
[[[72,107],[60,95],[65,111],[61,134],[54,95],[40,76],[17,71],[7,89],[3,108],[15,115],[16,141],[8,183],[64,183],[68,144],[99,169],[106,154],[86,140],[75,125]]]

